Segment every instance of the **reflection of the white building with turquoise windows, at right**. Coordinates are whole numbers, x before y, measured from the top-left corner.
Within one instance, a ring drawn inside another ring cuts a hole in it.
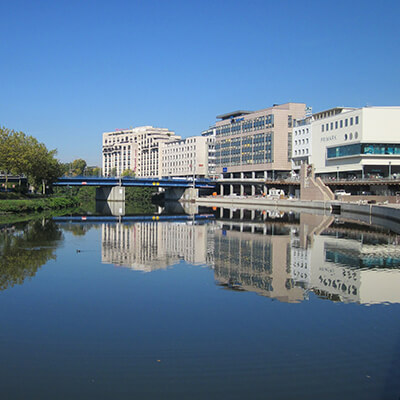
[[[400,302],[400,249],[392,243],[395,236],[335,227],[332,217],[313,216],[311,223],[310,218],[301,217],[292,238],[295,285],[334,301]]]

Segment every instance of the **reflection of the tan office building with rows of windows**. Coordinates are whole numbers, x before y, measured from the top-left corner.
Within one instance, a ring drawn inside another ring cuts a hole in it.
[[[285,302],[303,300],[303,290],[292,285],[288,268],[290,227],[218,224],[221,229],[215,232],[214,253],[217,281],[232,289],[240,287]]]

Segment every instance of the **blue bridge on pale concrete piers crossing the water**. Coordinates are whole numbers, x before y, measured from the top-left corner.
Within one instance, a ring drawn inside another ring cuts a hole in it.
[[[216,183],[209,179],[173,179],[173,178],[131,178],[131,177],[94,177],[64,176],[54,186],[95,186],[96,199],[124,201],[125,187],[155,187],[165,190],[167,200],[195,198],[200,189],[213,190]]]

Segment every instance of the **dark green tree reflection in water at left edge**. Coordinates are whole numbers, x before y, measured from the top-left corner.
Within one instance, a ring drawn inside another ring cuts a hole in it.
[[[56,258],[54,250],[62,237],[55,223],[34,221],[13,232],[0,232],[0,290],[22,284]]]

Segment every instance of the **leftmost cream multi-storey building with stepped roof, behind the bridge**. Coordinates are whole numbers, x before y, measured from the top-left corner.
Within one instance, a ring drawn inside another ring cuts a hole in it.
[[[180,140],[165,128],[140,126],[103,133],[103,173],[120,176],[132,171],[138,177],[160,177],[160,146]]]

